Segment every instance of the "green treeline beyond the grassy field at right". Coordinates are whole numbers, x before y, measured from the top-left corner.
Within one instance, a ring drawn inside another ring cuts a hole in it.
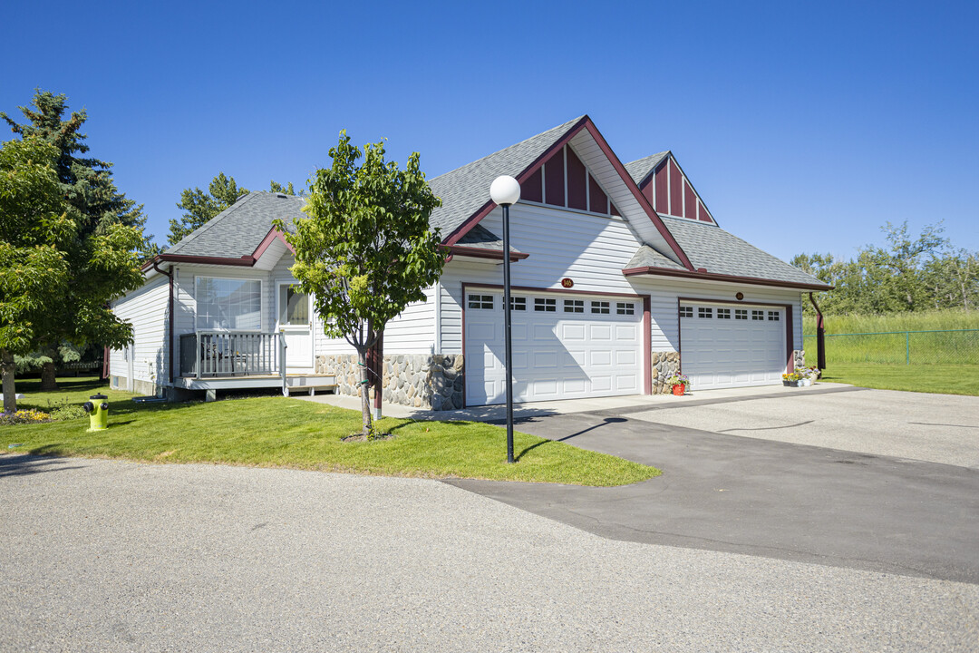
[[[857,257],[800,254],[791,263],[835,288],[816,293],[829,315],[923,310],[974,310],[979,304],[979,255],[955,249],[941,223],[912,238],[908,223],[881,227],[883,247],[867,245]],[[806,305],[808,310],[812,307]]]

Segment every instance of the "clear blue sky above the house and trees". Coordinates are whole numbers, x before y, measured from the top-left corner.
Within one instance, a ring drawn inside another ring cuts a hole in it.
[[[43,6],[43,16],[38,16]],[[434,177],[581,114],[670,149],[721,225],[788,259],[885,221],[979,250],[974,2],[5,3],[0,110],[40,87],[165,242],[218,172],[303,183],[348,129]],[[36,17],[36,18],[35,18]],[[9,136],[3,136],[7,139]]]

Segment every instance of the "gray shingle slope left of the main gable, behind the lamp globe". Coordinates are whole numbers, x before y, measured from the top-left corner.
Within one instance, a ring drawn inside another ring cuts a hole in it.
[[[429,180],[432,192],[442,198],[442,207],[432,213],[432,226],[448,238],[468,217],[489,202],[489,184],[501,174],[517,176],[536,158],[561,139],[583,116],[521,141],[516,145],[467,163]]]

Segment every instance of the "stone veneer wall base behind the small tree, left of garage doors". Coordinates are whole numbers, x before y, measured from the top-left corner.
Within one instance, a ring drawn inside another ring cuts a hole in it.
[[[388,353],[384,356],[381,398],[415,408],[454,410],[462,407],[463,357],[454,354]],[[316,373],[337,377],[337,394],[360,396],[356,354],[316,356]],[[374,399],[375,388],[370,390]]]

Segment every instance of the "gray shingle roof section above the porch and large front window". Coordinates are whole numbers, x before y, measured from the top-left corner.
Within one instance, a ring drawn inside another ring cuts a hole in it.
[[[305,200],[293,195],[258,191],[240,198],[201,227],[182,238],[163,254],[191,257],[239,258],[252,255],[272,228],[272,220],[282,218],[288,226],[305,217]]]

